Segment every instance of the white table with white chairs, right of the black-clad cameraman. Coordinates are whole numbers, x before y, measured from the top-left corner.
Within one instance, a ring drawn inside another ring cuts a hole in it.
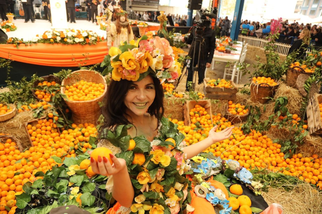
[[[212,69],[214,69],[215,67],[215,61],[219,61],[219,62],[238,62],[240,55],[242,53],[242,42],[238,41],[238,44],[233,45],[233,48],[237,49],[235,51],[232,50],[232,53],[235,54],[227,54],[227,53],[222,53],[219,52],[218,50],[215,50],[214,54],[213,54],[213,61],[212,61]],[[234,67],[232,69],[232,81],[234,79],[234,76],[236,74],[236,63],[234,64]]]

